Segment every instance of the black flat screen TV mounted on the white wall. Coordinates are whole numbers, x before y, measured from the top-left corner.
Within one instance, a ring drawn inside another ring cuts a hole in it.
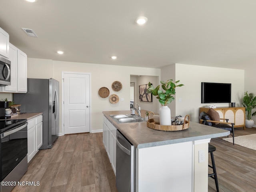
[[[201,83],[201,103],[230,103],[231,83]]]

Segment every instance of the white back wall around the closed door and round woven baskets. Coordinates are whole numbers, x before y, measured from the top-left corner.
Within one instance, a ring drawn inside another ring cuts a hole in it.
[[[38,67],[35,67],[38,66]],[[45,67],[42,67],[45,66]],[[62,62],[42,59],[28,59],[28,78],[54,78],[60,82],[59,100],[62,103],[62,72],[84,72],[91,73],[92,86],[92,132],[102,130],[102,111],[130,110],[130,74],[140,74],[146,76],[160,76],[160,69],[140,68],[129,66],[114,66],[104,64],[89,64],[76,62]],[[114,92],[111,85],[114,81],[122,83],[122,90]],[[123,102],[119,100],[117,104],[111,104],[109,98],[101,98],[98,90],[107,87],[110,94],[117,94]],[[143,108],[142,108],[143,109]],[[60,133],[62,132],[62,106],[60,106]]]

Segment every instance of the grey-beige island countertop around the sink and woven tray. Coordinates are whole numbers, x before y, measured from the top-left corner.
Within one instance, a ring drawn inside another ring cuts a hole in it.
[[[145,112],[145,110],[141,110],[142,116],[144,116]],[[130,114],[130,110],[104,111],[102,113],[138,149],[217,138],[230,134],[230,131],[196,122],[190,122],[190,126],[186,130],[159,131],[148,128],[147,122],[118,124],[110,117],[110,115]]]

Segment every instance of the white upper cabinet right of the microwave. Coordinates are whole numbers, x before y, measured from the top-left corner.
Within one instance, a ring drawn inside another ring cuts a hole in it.
[[[9,58],[11,61],[11,85],[3,86],[1,92],[27,92],[27,55],[10,44]]]

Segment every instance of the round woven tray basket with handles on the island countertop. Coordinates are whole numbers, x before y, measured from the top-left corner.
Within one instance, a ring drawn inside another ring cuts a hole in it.
[[[188,117],[188,120],[186,119]],[[160,131],[180,131],[189,128],[189,116],[186,115],[184,118],[185,123],[183,125],[160,125],[154,122],[154,119],[147,121],[148,128]]]

